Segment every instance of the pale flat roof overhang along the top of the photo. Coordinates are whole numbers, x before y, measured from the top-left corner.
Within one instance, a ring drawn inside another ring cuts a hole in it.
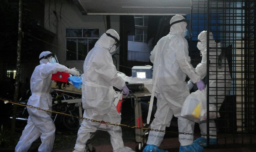
[[[187,15],[190,0],[73,0],[83,15]]]

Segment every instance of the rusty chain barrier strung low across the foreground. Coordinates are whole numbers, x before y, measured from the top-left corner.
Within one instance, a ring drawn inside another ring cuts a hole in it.
[[[19,103],[8,101],[8,100],[3,99],[3,98],[0,98],[0,100],[4,101],[5,103],[9,102],[9,103],[20,105],[20,106],[26,106],[26,107],[34,108],[34,109],[37,109],[37,110],[42,110],[42,111],[45,111],[45,112],[57,113],[57,114],[60,114],[60,115],[70,116],[70,117],[73,117],[73,118],[83,119],[83,120],[87,120],[87,121],[91,121],[91,122],[95,122],[95,123],[105,123],[105,124],[108,124],[108,125],[114,125],[114,126],[120,126],[120,127],[121,126],[125,126],[125,127],[132,128],[132,129],[142,129],[142,130],[158,131],[158,132],[164,132],[164,133],[194,135],[194,133],[183,133],[183,132],[175,132],[175,131],[157,130],[157,129],[152,129],[152,128],[139,127],[139,126],[129,126],[129,125],[119,124],[119,123],[110,123],[110,122],[105,122],[105,121],[100,121],[100,120],[95,120],[95,119],[83,118],[83,117],[80,117],[80,116],[72,116],[72,115],[67,114],[67,113],[56,112],[56,111],[52,111],[52,110],[46,110],[46,109],[42,109],[42,108],[35,107],[35,106],[32,106],[32,105],[23,105],[23,104],[19,104]],[[202,135],[202,136],[208,136],[208,135]],[[216,135],[209,135],[209,136],[217,137]]]

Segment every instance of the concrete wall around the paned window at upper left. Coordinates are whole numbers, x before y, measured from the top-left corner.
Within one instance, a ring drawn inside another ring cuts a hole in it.
[[[56,6],[55,6],[56,2]],[[66,38],[65,29],[66,28],[97,28],[100,29],[100,36],[105,33],[105,24],[103,18],[105,16],[84,16],[81,14],[79,9],[70,0],[59,0],[50,1],[45,0],[45,20],[44,28],[56,33],[55,40],[50,43],[58,47],[49,47],[49,49],[56,53],[60,64],[76,67],[83,71],[84,61],[66,61]],[[50,8],[50,9],[49,9]],[[55,9],[56,8],[56,9]],[[56,11],[56,16],[54,14]],[[50,16],[49,16],[50,14]],[[57,19],[58,18],[58,19]],[[111,28],[115,29],[119,33],[119,16],[110,16]],[[50,23],[49,23],[50,22]],[[117,52],[119,53],[119,51]]]

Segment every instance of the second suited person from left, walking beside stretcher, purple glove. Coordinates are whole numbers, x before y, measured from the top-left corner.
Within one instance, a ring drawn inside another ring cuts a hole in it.
[[[95,43],[84,61],[84,78],[82,85],[82,103],[84,118],[110,123],[121,123],[121,116],[114,105],[115,92],[113,86],[123,90],[128,96],[129,89],[125,81],[117,75],[111,53],[117,49],[119,35],[108,29]],[[77,133],[74,152],[83,152],[90,133],[94,133],[100,123],[83,120]],[[114,152],[133,151],[124,147],[120,126],[106,125]]]

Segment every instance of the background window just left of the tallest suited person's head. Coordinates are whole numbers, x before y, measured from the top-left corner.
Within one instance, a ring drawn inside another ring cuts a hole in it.
[[[147,40],[148,16],[135,15],[135,36],[128,36],[128,41],[145,43]]]

